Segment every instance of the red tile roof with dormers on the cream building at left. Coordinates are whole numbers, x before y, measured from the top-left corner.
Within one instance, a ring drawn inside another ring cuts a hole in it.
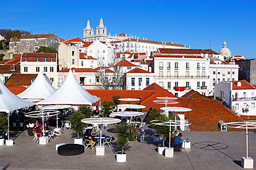
[[[39,58],[40,62],[44,62],[44,58],[47,59],[47,62],[50,62],[50,59],[53,58],[53,61],[56,62],[57,53],[24,53],[21,56],[21,61],[24,61],[24,58],[28,58],[28,62],[36,62],[36,59]]]

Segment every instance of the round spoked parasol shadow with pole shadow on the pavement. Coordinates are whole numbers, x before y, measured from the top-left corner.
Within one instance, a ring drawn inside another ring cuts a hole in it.
[[[225,143],[221,143],[221,142],[196,142],[192,146],[197,148],[197,149],[203,149],[203,150],[207,150],[207,151],[219,151],[223,155],[228,156],[228,158],[232,159],[232,161],[235,162],[235,164],[238,164],[241,167],[241,160],[235,160],[234,158],[232,158],[228,154],[221,151],[223,149],[228,148],[228,145],[226,145]]]

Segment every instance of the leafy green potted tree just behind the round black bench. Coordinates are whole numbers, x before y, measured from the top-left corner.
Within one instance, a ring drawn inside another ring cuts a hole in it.
[[[77,137],[79,138],[79,131],[82,131],[84,127],[87,127],[88,124],[82,123],[81,120],[84,118],[89,118],[91,116],[92,110],[91,107],[82,105],[78,108],[77,111],[74,111],[73,115],[69,117],[71,122],[71,129],[77,131]]]

